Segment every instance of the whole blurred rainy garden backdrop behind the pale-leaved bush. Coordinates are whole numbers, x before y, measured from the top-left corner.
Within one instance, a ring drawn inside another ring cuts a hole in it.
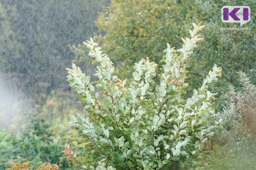
[[[249,6],[251,21],[223,23],[225,5]],[[228,85],[240,86],[236,72],[256,80],[255,5],[255,0],[0,0],[0,169],[10,162],[36,166],[45,161],[74,168],[61,151],[68,141],[77,154],[83,153],[67,123],[70,115],[84,110],[66,82],[65,68],[74,62],[93,78],[82,43],[89,37],[108,53],[118,76],[129,80],[135,62],[148,56],[161,65],[166,43],[179,49],[192,22],[202,21],[204,41],[188,63],[185,97],[216,63],[223,77],[210,90],[218,93],[213,107],[220,112]]]

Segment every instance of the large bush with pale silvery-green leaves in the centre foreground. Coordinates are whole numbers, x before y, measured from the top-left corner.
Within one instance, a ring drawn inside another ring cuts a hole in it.
[[[191,39],[182,39],[182,48],[175,50],[167,44],[158,85],[153,80],[157,64],[148,58],[135,63],[133,78],[126,85],[126,79],[121,81],[114,74],[113,63],[98,44],[92,38],[84,42],[94,58],[92,64],[98,63],[94,75],[99,80],[90,82],[91,77],[75,64],[67,68],[67,81],[89,114],[71,116],[69,124],[84,139],[86,153],[76,157],[67,144],[63,156],[69,162],[97,170],[176,169],[197,164],[202,145],[219,127],[211,108],[216,94],[207,89],[221,76],[221,68],[214,65],[203,85],[184,99],[188,87],[185,63],[202,40],[197,32],[204,25],[199,25],[193,23]]]

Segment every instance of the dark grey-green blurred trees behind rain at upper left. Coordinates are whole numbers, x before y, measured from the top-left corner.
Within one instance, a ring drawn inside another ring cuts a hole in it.
[[[11,79],[18,74],[14,84],[34,97],[63,87],[65,68],[74,58],[68,44],[78,44],[96,32],[93,21],[108,3],[2,0],[0,73]]]

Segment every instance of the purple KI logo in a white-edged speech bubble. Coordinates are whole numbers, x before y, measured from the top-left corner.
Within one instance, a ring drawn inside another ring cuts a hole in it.
[[[221,21],[236,23],[240,26],[251,20],[251,8],[249,6],[223,6],[221,8]]]

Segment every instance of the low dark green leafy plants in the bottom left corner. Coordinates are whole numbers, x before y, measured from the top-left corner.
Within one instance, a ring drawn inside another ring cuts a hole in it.
[[[53,131],[49,129],[49,124],[44,119],[32,119],[22,132],[27,140],[9,134],[1,141],[1,155],[4,155],[4,157],[1,157],[1,169],[9,167],[10,160],[13,162],[28,162],[32,166],[38,166],[47,160],[54,163],[59,162],[61,167],[63,165],[64,167],[67,166],[65,160],[60,161],[60,151],[63,146],[59,145],[57,147],[53,142]],[[6,140],[10,142],[4,147]],[[61,144],[63,145],[63,142]]]

